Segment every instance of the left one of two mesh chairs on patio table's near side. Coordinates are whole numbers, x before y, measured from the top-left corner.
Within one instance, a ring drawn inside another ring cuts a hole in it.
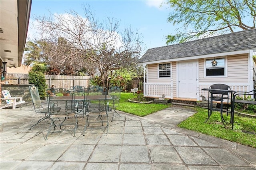
[[[65,95],[63,91],[68,95]],[[48,134],[52,130],[54,130],[53,132],[74,130],[74,136],[76,136],[76,128],[78,127],[76,107],[78,103],[75,102],[74,89],[55,89],[52,93],[47,93],[47,99],[51,124],[45,140],[47,140]],[[56,123],[57,119],[61,119],[62,121]],[[70,128],[71,125],[73,125],[74,128]],[[56,130],[57,126],[60,127],[60,130]],[[63,127],[65,128],[63,129]]]

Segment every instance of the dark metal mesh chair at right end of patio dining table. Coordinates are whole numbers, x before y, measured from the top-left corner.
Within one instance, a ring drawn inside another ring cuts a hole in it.
[[[113,121],[115,113],[119,115],[119,117],[121,117],[121,115],[116,112],[116,108],[119,106],[120,103],[121,91],[122,89],[118,86],[110,87],[110,89],[108,90],[108,95],[112,97],[112,99],[108,101],[108,111],[111,111],[113,113],[111,121]]]

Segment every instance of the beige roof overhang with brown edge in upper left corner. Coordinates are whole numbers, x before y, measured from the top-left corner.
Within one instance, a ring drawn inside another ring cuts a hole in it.
[[[0,59],[20,67],[32,0],[0,0]]]

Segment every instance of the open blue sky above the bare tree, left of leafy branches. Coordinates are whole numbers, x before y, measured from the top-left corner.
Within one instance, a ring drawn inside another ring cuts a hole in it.
[[[163,5],[163,0],[32,0],[30,23],[33,16],[51,13],[63,14],[74,10],[83,16],[82,5],[90,6],[95,17],[106,17],[119,21],[120,28],[131,26],[142,35],[144,50],[166,45],[166,36],[174,32],[174,27],[167,22],[170,9]],[[28,36],[33,34],[29,25]]]

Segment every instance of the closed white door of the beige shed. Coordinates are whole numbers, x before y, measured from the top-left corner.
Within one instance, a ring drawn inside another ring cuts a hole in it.
[[[178,63],[178,96],[196,98],[196,61]]]

